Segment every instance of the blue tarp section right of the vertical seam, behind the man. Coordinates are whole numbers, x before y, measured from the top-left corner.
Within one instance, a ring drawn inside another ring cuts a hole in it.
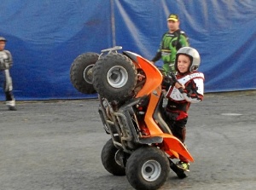
[[[207,92],[256,89],[256,1],[150,2],[115,0],[117,43],[152,59],[175,13],[201,54]]]

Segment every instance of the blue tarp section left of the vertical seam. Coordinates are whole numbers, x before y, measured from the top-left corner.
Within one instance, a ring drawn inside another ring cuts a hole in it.
[[[108,1],[5,1],[0,35],[14,57],[11,69],[17,100],[72,99],[69,68],[84,52],[112,44]]]

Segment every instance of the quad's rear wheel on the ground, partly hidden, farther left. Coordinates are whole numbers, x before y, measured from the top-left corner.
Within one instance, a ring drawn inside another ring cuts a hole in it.
[[[102,164],[114,176],[125,176],[125,167],[120,163],[119,149],[114,147],[112,139],[102,148]]]

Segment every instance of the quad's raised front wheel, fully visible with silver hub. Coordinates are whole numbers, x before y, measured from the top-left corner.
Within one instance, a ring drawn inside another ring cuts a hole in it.
[[[121,54],[109,54],[93,67],[93,86],[108,101],[126,101],[133,95],[137,70],[132,61]]]

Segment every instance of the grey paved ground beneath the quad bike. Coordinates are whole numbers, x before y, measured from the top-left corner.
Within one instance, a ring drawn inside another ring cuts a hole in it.
[[[0,105],[0,189],[132,189],[111,176],[100,154],[109,136],[96,100]],[[255,189],[256,93],[206,95],[189,111],[189,177],[171,171],[160,189]]]

